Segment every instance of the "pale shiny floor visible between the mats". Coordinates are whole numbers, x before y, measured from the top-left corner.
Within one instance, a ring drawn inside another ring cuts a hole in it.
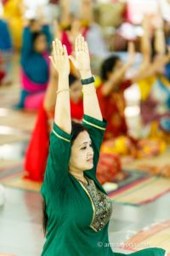
[[[19,97],[19,65],[18,58],[15,58],[14,85],[0,88],[1,117],[5,113],[8,114],[5,110],[10,108]],[[32,118],[34,119],[34,113],[32,113]],[[5,129],[0,120],[0,136],[3,137],[4,131],[8,131]],[[17,129],[20,131],[19,128]],[[1,144],[0,160],[8,160],[8,162],[23,160],[27,142],[28,138],[18,143]],[[169,212],[170,193],[140,207],[113,204],[109,229],[112,249],[116,252],[127,253],[117,247],[138,230],[169,218]],[[3,207],[0,207],[0,255],[1,253],[13,253],[17,256],[39,256],[43,242],[41,195],[5,187],[5,203]]]

